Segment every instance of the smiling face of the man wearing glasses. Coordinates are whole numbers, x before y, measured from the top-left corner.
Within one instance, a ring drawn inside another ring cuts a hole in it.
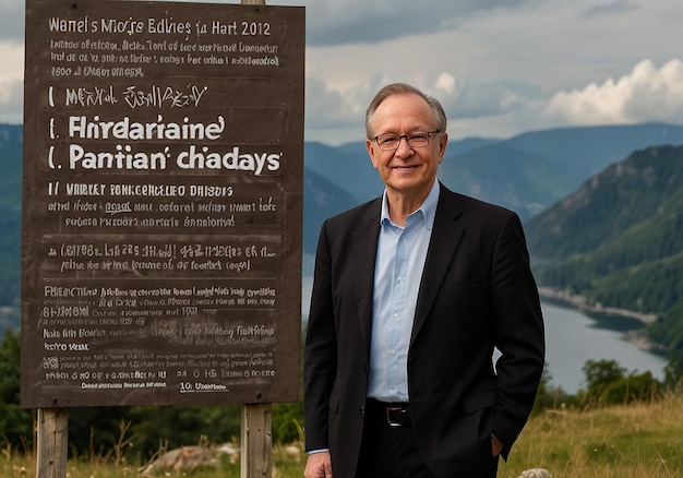
[[[431,108],[417,95],[393,95],[382,101],[372,122],[373,136],[380,134],[408,134],[416,131],[434,131],[434,116]],[[445,133],[430,134],[427,146],[411,147],[405,138],[398,148],[384,151],[374,140],[366,145],[372,165],[387,188],[387,192],[408,194],[423,200],[436,178],[439,164],[446,151]]]

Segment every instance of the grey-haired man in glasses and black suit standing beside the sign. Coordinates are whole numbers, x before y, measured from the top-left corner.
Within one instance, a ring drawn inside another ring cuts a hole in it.
[[[495,477],[543,369],[519,218],[436,180],[447,134],[434,98],[385,86],[366,129],[385,190],[321,229],[304,476]]]

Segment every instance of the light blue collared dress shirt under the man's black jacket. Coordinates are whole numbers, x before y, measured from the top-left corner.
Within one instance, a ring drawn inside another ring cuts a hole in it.
[[[370,398],[408,402],[408,347],[438,202],[434,181],[422,205],[400,227],[390,219],[384,191],[374,268]]]

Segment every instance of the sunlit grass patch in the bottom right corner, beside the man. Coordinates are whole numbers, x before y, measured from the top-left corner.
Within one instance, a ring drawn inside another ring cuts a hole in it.
[[[683,396],[534,417],[499,477],[527,468],[560,477],[683,477]]]

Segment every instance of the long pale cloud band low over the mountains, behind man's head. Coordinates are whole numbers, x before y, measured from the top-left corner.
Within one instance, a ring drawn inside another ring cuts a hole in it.
[[[458,76],[454,71],[392,73],[336,86],[324,76],[310,76],[307,136],[328,144],[362,141],[364,108],[381,86],[395,81],[408,81],[436,97],[446,110],[453,139],[508,138],[580,124],[683,123],[683,61],[673,59],[661,68],[643,60],[619,80],[560,92],[505,77]]]

